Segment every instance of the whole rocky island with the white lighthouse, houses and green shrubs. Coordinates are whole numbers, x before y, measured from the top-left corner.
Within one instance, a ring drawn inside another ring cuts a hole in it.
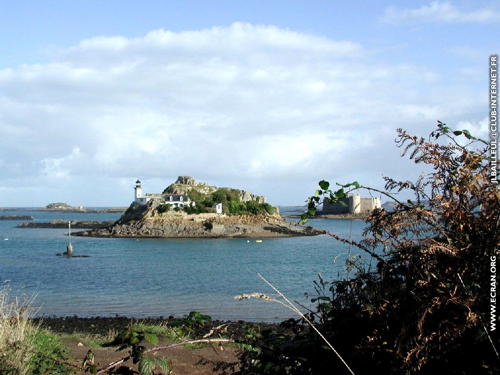
[[[282,220],[265,197],[240,189],[198,183],[179,176],[162,193],[142,195],[136,181],[135,201],[112,225],[76,236],[219,238],[290,237],[317,235],[321,231]]]

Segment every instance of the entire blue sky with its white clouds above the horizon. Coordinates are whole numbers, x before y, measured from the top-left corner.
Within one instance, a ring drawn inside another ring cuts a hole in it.
[[[137,178],[178,175],[274,205],[414,180],[397,128],[487,139],[498,19],[496,1],[0,0],[0,206],[128,206]]]

